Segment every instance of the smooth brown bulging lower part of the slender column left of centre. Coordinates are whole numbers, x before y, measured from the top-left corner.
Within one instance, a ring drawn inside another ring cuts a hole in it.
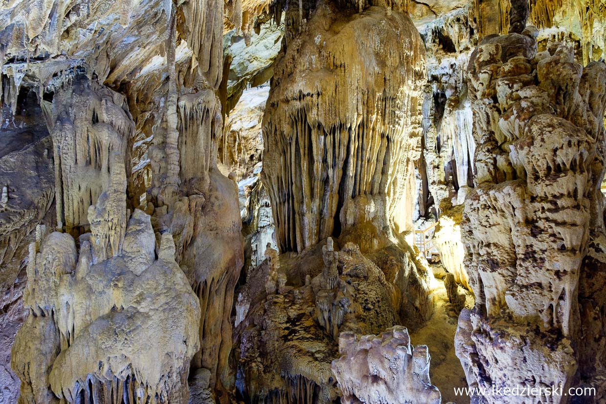
[[[208,171],[205,195],[179,196],[170,205],[147,209],[159,231],[175,240],[175,259],[187,276],[201,306],[199,346],[191,369],[210,371],[210,386],[219,391],[233,385],[227,360],[231,349],[231,308],[236,281],[244,263],[242,222],[236,184]],[[223,399],[227,399],[224,392]]]

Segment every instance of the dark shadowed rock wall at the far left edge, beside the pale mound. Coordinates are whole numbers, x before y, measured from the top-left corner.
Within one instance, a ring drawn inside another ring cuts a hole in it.
[[[35,95],[28,93],[15,116],[10,108],[3,112],[7,118],[0,129],[0,184],[4,184],[0,199],[0,402],[13,403],[19,379],[10,368],[10,348],[27,314],[22,303],[27,245],[35,240],[38,224],[55,221],[55,175],[52,139]]]

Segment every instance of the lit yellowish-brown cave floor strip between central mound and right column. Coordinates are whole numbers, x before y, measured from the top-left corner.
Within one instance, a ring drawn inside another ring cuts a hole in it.
[[[467,404],[469,397],[455,396],[454,388],[466,387],[467,380],[458,357],[454,354],[454,334],[456,333],[458,313],[448,303],[444,281],[436,279],[436,310],[422,328],[410,334],[414,345],[427,345],[431,355],[429,374],[431,384],[438,387],[442,394],[442,403],[454,402]],[[473,307],[473,295],[459,286],[459,293],[465,292],[465,307]]]

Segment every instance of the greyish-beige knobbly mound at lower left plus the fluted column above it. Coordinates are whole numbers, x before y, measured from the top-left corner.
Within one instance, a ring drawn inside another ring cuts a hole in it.
[[[56,114],[53,141],[61,156],[57,177],[65,179],[62,195],[79,190],[76,187],[82,182],[77,181],[82,178],[78,174],[87,173],[88,167],[105,177],[98,184],[87,184],[101,193],[88,208],[88,219],[72,213],[81,212],[81,204],[90,199],[67,199],[70,228],[90,225],[90,233],[79,237],[79,248],[69,234],[45,235],[42,228],[30,245],[24,293],[30,319],[19,335],[50,329],[53,325],[48,319],[52,319],[57,338],[39,336],[39,348],[17,337],[12,366],[21,376],[22,400],[52,397],[53,401],[54,394],[70,403],[84,397],[119,403],[124,391],[124,397],[134,402],[182,401],[188,396],[189,363],[199,349],[198,299],[174,253],[162,254],[175,250],[170,234],[162,237],[156,260],[153,250],[142,245],[154,240],[150,217],[138,210],[131,215],[126,209],[128,137],[122,133],[132,128],[132,121],[121,104],[112,102],[121,102],[121,96],[110,98],[110,90],[93,82],[81,80],[74,85],[77,90],[65,93],[73,96],[78,91],[93,102],[79,105],[83,111],[78,108],[72,115],[77,118],[75,124],[64,118],[65,113]],[[107,98],[96,104],[99,93]],[[61,107],[57,110],[68,110],[59,100],[66,98],[58,98]],[[83,136],[87,136],[84,142],[79,140]],[[68,147],[73,143],[76,150]],[[135,267],[133,261],[141,266]],[[46,367],[33,377],[24,371],[30,363]],[[49,371],[44,373],[44,369]]]

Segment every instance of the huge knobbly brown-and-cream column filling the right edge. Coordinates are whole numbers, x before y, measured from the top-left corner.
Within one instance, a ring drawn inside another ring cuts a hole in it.
[[[469,64],[478,147],[461,231],[476,306],[459,317],[458,356],[470,386],[594,386],[598,402],[606,66],[557,43],[537,52],[536,28],[514,28]]]

